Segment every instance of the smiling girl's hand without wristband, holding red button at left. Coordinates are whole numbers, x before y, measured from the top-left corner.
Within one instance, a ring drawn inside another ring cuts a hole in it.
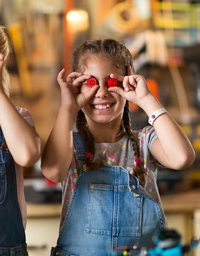
[[[74,115],[82,109],[82,107],[92,98],[96,92],[98,85],[88,87],[86,92],[80,92],[80,86],[91,75],[83,75],[79,72],[72,72],[64,78],[65,69],[58,73],[57,81],[61,87],[61,104],[66,106],[69,111],[74,112]]]

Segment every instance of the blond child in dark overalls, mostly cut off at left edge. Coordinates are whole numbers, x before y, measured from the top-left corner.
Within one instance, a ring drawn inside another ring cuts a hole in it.
[[[30,166],[42,155],[42,141],[31,114],[9,100],[10,76],[6,64],[11,44],[0,26],[0,255],[28,255],[27,208],[21,166]]]

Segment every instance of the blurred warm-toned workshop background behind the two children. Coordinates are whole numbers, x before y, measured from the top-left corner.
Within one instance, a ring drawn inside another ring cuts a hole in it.
[[[114,38],[135,58],[135,69],[181,125],[196,150],[188,170],[162,170],[158,186],[170,228],[184,243],[200,236],[200,1],[0,0],[0,21],[13,42],[8,70],[13,104],[31,112],[46,143],[61,103],[57,83],[84,40]],[[132,128],[148,125],[130,105]],[[173,145],[172,145],[173,146]],[[24,168],[29,254],[49,255],[56,244],[61,184],[44,178],[40,161]],[[51,228],[51,232],[49,229]],[[189,255],[200,255],[200,250]]]

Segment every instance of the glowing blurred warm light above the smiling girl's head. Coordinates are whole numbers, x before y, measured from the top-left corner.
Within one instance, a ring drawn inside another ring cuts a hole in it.
[[[66,19],[69,29],[73,32],[85,31],[89,27],[88,13],[84,10],[69,11]]]

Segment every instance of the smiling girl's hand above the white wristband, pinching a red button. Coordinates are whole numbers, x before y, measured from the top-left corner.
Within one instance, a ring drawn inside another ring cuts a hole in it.
[[[116,92],[124,99],[142,106],[142,101],[152,92],[149,90],[146,80],[141,75],[118,76],[111,74],[111,78],[116,78],[118,82],[122,83],[122,87],[109,87],[110,92]]]

